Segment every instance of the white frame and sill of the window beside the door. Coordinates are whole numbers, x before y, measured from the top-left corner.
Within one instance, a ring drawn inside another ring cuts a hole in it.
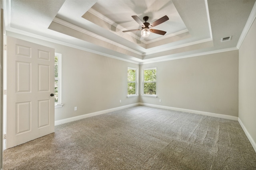
[[[55,108],[58,108],[58,107],[63,106],[62,101],[61,101],[61,95],[62,95],[62,87],[61,87],[61,84],[62,84],[61,83],[62,62],[61,62],[61,59],[62,59],[62,55],[60,53],[55,53],[54,58],[55,58],[55,56],[58,57],[58,78],[56,78],[54,76],[54,83],[55,83],[55,80],[58,80],[58,102],[54,102],[54,106],[55,106]]]

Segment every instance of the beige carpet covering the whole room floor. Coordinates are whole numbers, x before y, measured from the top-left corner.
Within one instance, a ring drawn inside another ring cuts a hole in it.
[[[4,151],[4,170],[255,170],[238,121],[135,106]]]

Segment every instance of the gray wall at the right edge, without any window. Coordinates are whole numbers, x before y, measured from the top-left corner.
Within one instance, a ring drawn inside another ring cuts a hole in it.
[[[239,49],[239,119],[256,142],[256,21]]]

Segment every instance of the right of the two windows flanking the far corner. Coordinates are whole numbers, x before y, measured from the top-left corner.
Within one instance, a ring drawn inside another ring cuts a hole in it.
[[[143,94],[156,97],[156,68],[147,68],[142,70],[143,76]]]

